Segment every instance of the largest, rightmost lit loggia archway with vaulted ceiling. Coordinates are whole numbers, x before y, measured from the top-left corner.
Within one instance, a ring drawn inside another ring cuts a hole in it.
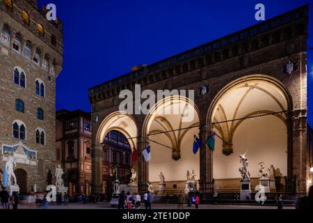
[[[213,178],[221,190],[237,190],[239,155],[247,152],[252,188],[259,184],[259,169],[275,167],[275,186],[287,187],[290,145],[288,144],[289,93],[272,77],[253,75],[228,84],[209,110],[216,139]]]

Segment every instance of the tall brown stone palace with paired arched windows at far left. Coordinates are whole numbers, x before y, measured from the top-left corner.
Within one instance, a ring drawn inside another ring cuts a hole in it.
[[[55,171],[63,24],[46,13],[35,0],[0,1],[0,169],[15,158],[21,193],[33,185],[44,191],[47,172]]]

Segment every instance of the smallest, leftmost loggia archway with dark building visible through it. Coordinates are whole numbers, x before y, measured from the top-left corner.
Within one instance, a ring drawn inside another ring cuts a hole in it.
[[[121,157],[117,157],[118,155],[122,154],[123,159],[127,157],[127,160],[123,161],[125,166],[127,166],[124,170],[126,175],[129,174],[129,170],[127,170],[129,167],[133,167],[138,171],[137,162],[131,162],[131,153],[134,148],[137,148],[137,137],[136,122],[126,112],[113,112],[104,118],[95,137],[95,148],[102,155],[97,158],[98,160],[93,159],[94,193],[104,194],[106,192],[108,196],[112,195],[110,189],[112,186],[111,179],[113,178],[111,176],[113,173],[113,164],[118,164],[118,160],[122,160]],[[118,141],[117,144],[116,141]],[[125,147],[125,151],[122,153],[120,148],[117,149],[120,146]],[[124,180],[126,181],[125,174]]]

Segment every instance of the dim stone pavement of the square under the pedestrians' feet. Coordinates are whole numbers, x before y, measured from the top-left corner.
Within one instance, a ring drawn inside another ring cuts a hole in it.
[[[141,209],[143,208],[143,203],[141,204]],[[27,206],[21,205],[19,209],[42,209],[41,206]],[[68,206],[56,206],[55,204],[50,204],[49,209],[117,209],[111,208],[109,203],[69,203]],[[177,204],[172,203],[152,203],[152,209],[178,209]],[[187,207],[184,209],[195,209],[194,206]],[[243,206],[243,205],[222,205],[222,204],[203,204],[199,206],[199,209],[277,209],[275,206]],[[294,209],[294,207],[284,207],[284,209]]]

